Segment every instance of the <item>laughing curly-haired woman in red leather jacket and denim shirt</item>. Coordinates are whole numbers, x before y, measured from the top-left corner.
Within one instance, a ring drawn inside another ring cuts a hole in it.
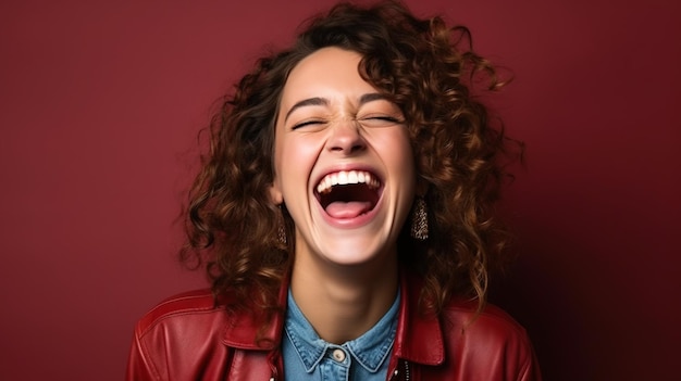
[[[538,380],[486,305],[507,139],[468,31],[338,4],[259,61],[211,125],[183,257],[211,291],[137,325],[133,380]]]

